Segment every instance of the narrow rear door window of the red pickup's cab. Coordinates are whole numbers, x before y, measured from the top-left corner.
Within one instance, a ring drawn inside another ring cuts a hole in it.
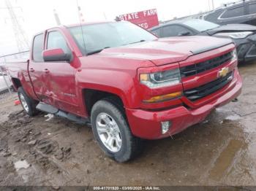
[[[42,62],[42,51],[44,50],[44,36],[39,34],[34,36],[33,42],[33,61]]]

